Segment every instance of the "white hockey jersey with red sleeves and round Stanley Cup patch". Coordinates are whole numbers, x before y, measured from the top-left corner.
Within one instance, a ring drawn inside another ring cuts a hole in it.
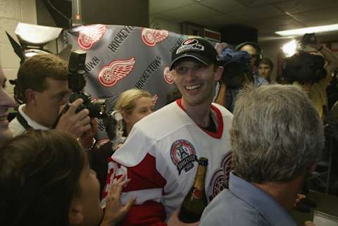
[[[123,189],[121,200],[124,204],[127,199],[136,197],[137,205],[133,207],[137,211],[132,208],[123,225],[144,225],[147,214],[152,220],[146,225],[165,225],[163,215],[168,218],[179,208],[192,187],[200,157],[208,158],[205,183],[208,201],[227,187],[229,174],[224,170],[231,168],[228,130],[232,114],[216,103],[212,104],[211,111],[217,122],[215,133],[196,125],[182,109],[180,100],[134,125],[125,144],[113,154],[108,164],[102,200],[105,206],[109,184],[127,174],[131,182]],[[163,214],[161,206],[165,210]],[[137,219],[139,217],[142,220]],[[163,223],[156,222],[161,220]]]

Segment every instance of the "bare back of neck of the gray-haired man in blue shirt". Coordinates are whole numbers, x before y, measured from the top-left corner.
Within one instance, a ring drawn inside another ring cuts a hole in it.
[[[264,182],[262,184],[252,183],[280,203],[287,211],[291,212],[294,207],[296,195],[303,185],[304,175],[294,178],[289,182]]]

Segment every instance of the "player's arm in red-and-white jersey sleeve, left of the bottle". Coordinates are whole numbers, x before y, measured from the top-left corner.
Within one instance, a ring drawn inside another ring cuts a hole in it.
[[[135,198],[135,204],[130,208],[121,225],[166,225],[165,208],[161,203],[165,180],[156,170],[154,157],[147,155],[138,165],[129,168],[111,159],[108,163],[106,188],[102,199],[103,207],[106,205],[106,196],[111,189],[111,184],[119,180],[121,175],[127,175],[131,180],[123,187],[121,202],[125,203],[126,200]]]

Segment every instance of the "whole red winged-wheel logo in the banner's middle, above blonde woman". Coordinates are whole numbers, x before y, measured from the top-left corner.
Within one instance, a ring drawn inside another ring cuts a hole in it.
[[[135,58],[112,61],[99,72],[99,82],[105,87],[113,87],[118,81],[129,75],[135,67]]]

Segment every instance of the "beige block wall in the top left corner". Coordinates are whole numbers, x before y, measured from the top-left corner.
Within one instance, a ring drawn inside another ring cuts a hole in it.
[[[16,77],[20,59],[15,55],[5,31],[18,41],[14,30],[20,22],[37,24],[35,0],[0,0],[0,64],[8,80]],[[8,82],[6,86],[13,94],[11,84]]]

